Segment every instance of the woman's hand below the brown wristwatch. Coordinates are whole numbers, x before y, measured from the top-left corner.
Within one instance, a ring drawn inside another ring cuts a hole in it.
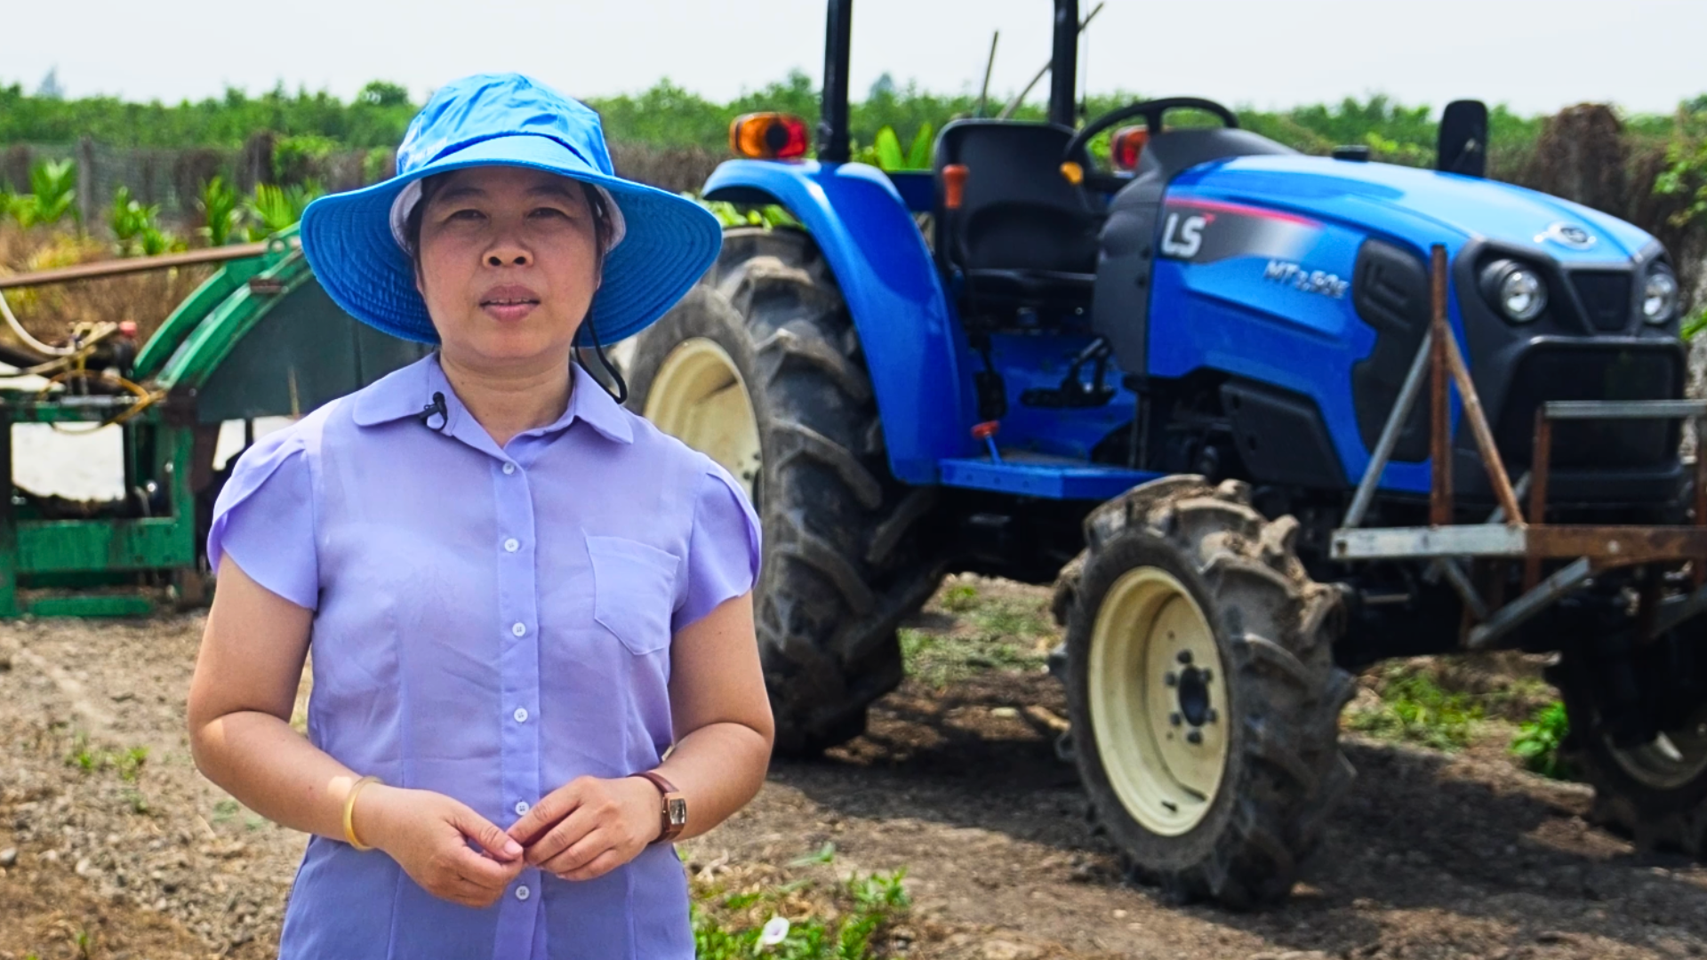
[[[509,835],[562,880],[594,880],[635,859],[664,828],[657,787],[640,777],[580,777],[536,803]]]

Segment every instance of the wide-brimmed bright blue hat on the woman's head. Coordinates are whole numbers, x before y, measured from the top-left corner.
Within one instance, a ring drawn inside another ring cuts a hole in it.
[[[333,302],[386,333],[437,343],[399,224],[420,179],[463,167],[534,167],[596,186],[613,234],[575,342],[615,343],[664,314],[717,258],[722,227],[698,203],[616,176],[599,114],[521,73],[478,73],[434,92],[398,147],[398,176],[321,196],[302,253]]]

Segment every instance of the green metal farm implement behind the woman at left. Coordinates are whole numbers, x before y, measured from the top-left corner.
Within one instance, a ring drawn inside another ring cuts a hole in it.
[[[203,596],[207,523],[224,483],[222,425],[299,415],[423,355],[357,323],[321,290],[294,231],[265,243],[0,277],[9,289],[220,263],[159,330],[77,330],[68,343],[31,337],[9,309],[0,362],[0,617],[140,615]],[[14,482],[12,427],[114,427],[123,490],[70,500]],[[234,460],[234,458],[232,458]]]

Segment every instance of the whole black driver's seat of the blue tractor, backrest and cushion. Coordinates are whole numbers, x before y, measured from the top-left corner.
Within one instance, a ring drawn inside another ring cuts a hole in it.
[[[1103,214],[1062,178],[1072,130],[1053,123],[958,120],[937,138],[935,249],[976,311],[1072,311],[1091,304]],[[1081,161],[1084,162],[1084,161]],[[942,169],[966,167],[949,210]]]

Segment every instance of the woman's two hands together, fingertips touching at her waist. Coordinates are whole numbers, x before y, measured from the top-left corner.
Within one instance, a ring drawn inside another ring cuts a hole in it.
[[[580,777],[551,791],[507,832],[434,791],[374,784],[355,805],[355,832],[434,897],[490,907],[527,866],[594,880],[657,839],[657,787],[638,777]]]

